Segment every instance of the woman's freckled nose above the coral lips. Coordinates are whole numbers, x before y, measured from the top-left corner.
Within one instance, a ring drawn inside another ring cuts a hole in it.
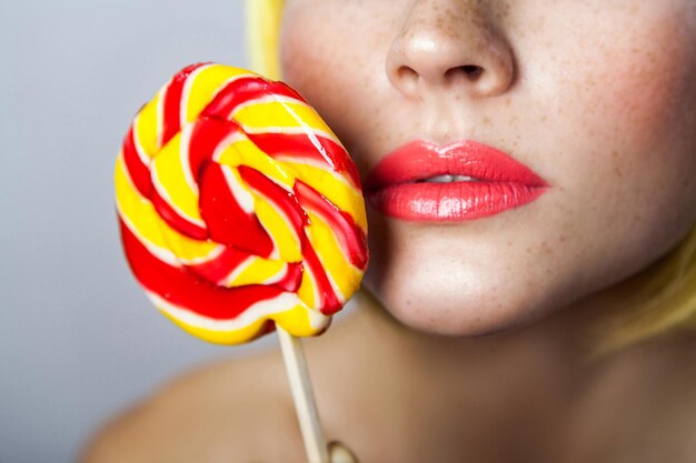
[[[471,98],[505,93],[513,84],[513,50],[480,0],[415,0],[387,56],[387,74],[402,94],[438,89]]]

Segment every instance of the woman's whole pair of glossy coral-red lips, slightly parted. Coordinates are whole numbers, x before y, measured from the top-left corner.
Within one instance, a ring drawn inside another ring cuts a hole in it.
[[[425,181],[438,175],[476,181]],[[528,167],[471,140],[446,145],[411,141],[385,157],[365,182],[366,197],[376,209],[422,222],[495,215],[536,200],[548,188]]]

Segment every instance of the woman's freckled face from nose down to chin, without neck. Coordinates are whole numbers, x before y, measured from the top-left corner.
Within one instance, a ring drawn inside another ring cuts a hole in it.
[[[414,328],[523,324],[645,269],[694,223],[694,0],[290,0],[281,54],[364,179],[409,142],[468,140],[546,183],[445,221],[368,194],[367,288]]]

